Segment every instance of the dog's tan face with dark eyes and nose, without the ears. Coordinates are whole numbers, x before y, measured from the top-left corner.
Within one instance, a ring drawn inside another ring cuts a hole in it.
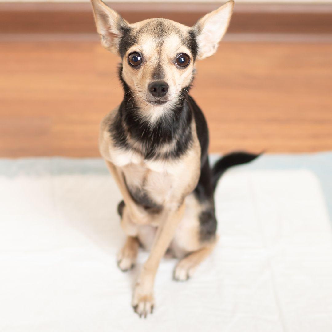
[[[193,77],[196,45],[189,28],[163,19],[132,25],[132,43],[123,54],[122,77],[153,105],[170,105]]]

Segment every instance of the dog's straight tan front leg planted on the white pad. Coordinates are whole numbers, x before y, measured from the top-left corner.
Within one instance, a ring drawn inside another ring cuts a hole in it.
[[[154,305],[154,278],[160,260],[164,256],[174,236],[175,230],[183,217],[184,209],[184,202],[180,207],[168,209],[165,211],[165,218],[158,226],[150,256],[143,265],[132,297],[132,306],[140,317],[142,315],[146,317],[148,313],[152,313]]]

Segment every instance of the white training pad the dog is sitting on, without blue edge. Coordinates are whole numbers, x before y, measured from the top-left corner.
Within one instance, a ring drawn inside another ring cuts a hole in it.
[[[20,172],[0,188],[1,332],[332,331],[331,227],[310,171],[228,171],[216,249],[188,282],[162,260],[146,320],[130,301],[147,253],[117,268],[110,175]]]

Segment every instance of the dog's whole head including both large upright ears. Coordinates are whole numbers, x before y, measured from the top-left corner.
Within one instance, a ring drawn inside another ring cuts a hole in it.
[[[138,105],[172,108],[193,80],[196,59],[215,53],[233,1],[189,28],[166,19],[129,24],[101,0],[91,0],[101,43],[122,58],[122,78]]]

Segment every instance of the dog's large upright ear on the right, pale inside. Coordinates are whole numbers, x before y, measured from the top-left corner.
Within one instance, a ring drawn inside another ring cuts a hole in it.
[[[199,19],[193,26],[198,46],[197,59],[205,59],[216,52],[219,41],[228,28],[233,7],[234,1],[228,1],[220,8]]]

